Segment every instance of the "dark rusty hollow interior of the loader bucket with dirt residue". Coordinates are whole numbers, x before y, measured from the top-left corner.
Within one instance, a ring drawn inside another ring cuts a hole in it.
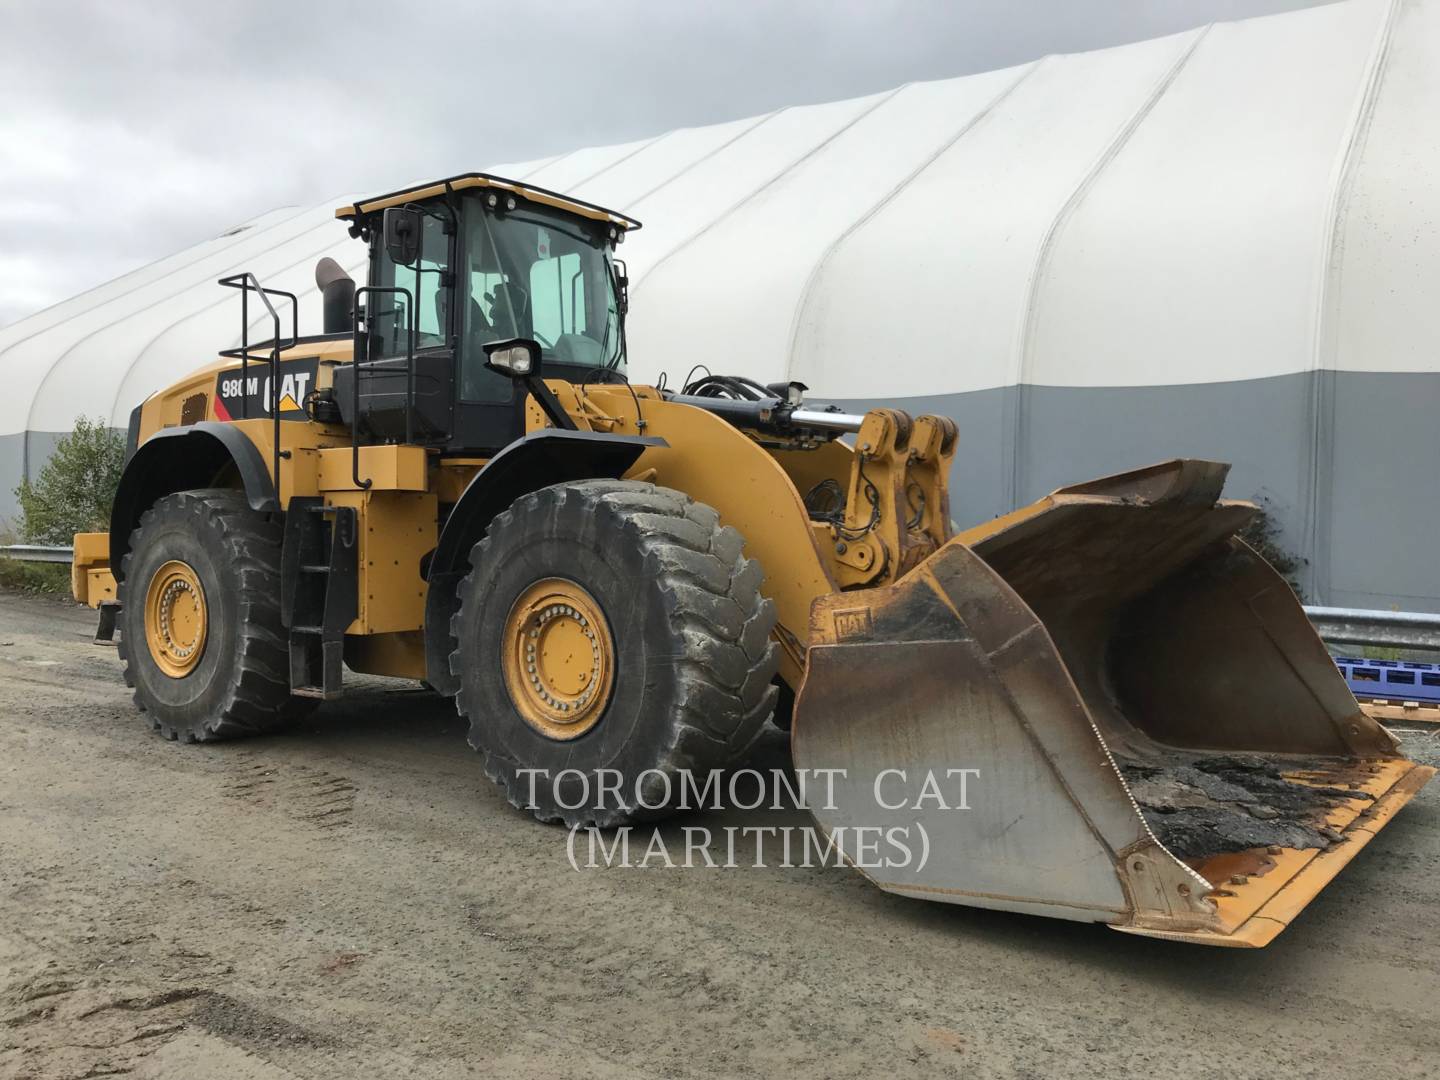
[[[1210,873],[1323,850],[1397,757],[1289,585],[1234,539],[1251,513],[1080,498],[975,546],[1044,624],[1151,831]]]

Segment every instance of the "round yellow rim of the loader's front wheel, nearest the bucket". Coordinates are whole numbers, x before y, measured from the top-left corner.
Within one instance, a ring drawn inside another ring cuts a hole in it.
[[[505,688],[527,724],[550,739],[577,739],[599,721],[615,684],[615,641],[585,589],[546,577],[505,618]]]

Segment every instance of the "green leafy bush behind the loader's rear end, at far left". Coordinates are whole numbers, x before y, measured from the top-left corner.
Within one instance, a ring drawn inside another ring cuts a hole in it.
[[[76,533],[109,528],[125,465],[125,439],[102,419],[81,416],[75,431],[60,439],[32,484],[14,490],[20,500],[20,536],[30,544],[69,544]]]

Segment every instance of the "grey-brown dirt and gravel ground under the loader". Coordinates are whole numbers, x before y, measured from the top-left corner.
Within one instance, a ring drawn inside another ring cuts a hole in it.
[[[92,629],[0,595],[0,1077],[1440,1071],[1440,783],[1273,946],[1200,949],[840,868],[577,873],[446,701],[171,744]]]

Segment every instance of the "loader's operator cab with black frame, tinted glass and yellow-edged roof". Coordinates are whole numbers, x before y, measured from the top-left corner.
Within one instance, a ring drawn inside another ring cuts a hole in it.
[[[482,173],[336,216],[370,245],[356,363],[334,379],[341,415],[364,441],[492,454],[520,438],[526,393],[485,366],[495,341],[537,343],[546,377],[624,382],[626,279],[615,246],[639,222]]]

